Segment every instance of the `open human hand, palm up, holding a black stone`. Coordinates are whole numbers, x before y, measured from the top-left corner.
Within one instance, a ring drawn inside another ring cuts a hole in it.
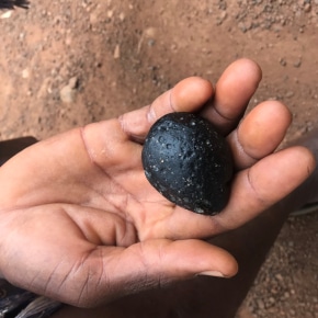
[[[95,306],[197,274],[231,276],[234,258],[201,239],[252,219],[313,171],[311,154],[273,154],[291,123],[263,102],[238,125],[261,79],[247,59],[214,90],[189,78],[151,105],[41,141],[0,168],[0,275],[76,306]],[[236,174],[225,209],[197,215],[163,198],[146,180],[143,141],[169,112],[200,112],[224,135]]]

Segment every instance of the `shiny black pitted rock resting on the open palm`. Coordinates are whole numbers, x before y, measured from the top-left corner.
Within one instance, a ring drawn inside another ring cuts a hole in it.
[[[156,122],[144,145],[143,164],[152,186],[179,206],[214,215],[227,204],[230,150],[200,116],[171,113]]]

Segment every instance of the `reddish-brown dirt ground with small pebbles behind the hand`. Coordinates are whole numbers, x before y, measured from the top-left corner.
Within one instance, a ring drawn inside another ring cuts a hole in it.
[[[239,57],[263,69],[250,107],[291,109],[285,141],[318,124],[318,0],[31,0],[0,27],[0,139],[116,116]],[[238,317],[318,317],[318,213],[288,219]]]

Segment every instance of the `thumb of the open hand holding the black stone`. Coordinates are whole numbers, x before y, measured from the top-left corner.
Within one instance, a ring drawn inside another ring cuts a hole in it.
[[[161,287],[196,275],[232,276],[236,260],[225,250],[201,240],[156,239],[128,248],[104,247],[102,276],[83,306],[96,306],[128,294]],[[110,250],[112,251],[110,252]],[[88,300],[88,302],[86,302]]]

